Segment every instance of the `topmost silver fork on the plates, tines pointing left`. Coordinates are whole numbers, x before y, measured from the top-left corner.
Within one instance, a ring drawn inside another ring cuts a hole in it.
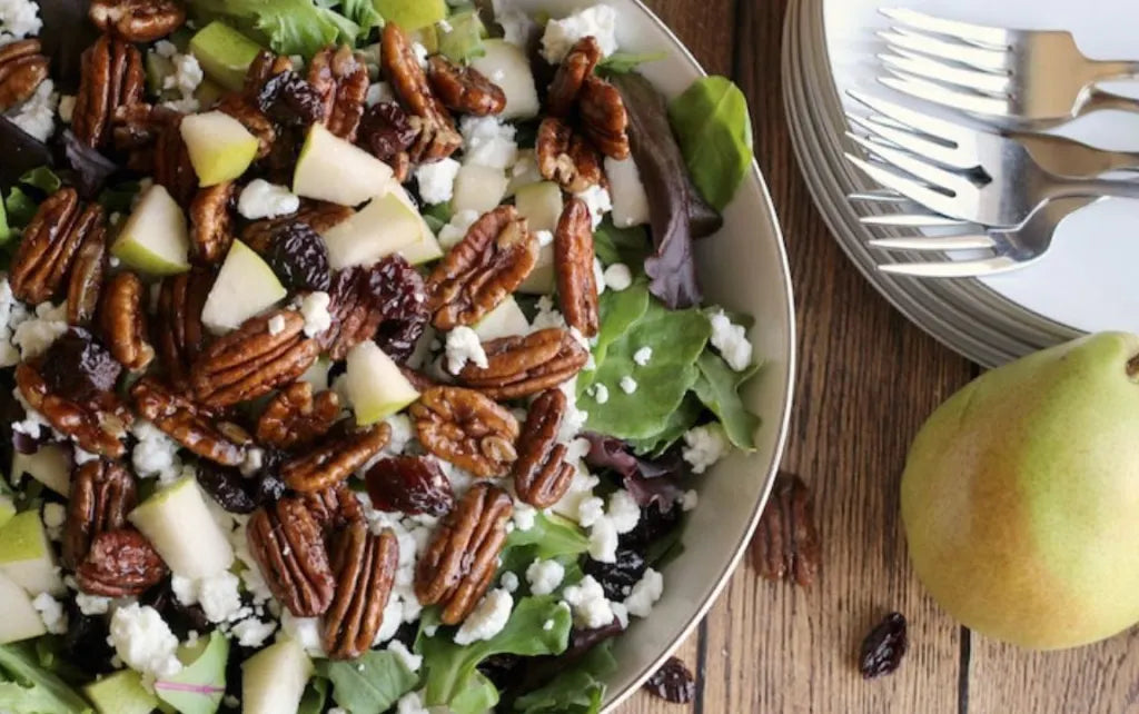
[[[1139,112],[1139,101],[1096,87],[1139,76],[1139,63],[1089,59],[1068,32],[1007,30],[933,17],[907,8],[882,13],[879,33],[894,75],[880,81],[954,109],[1055,126],[1100,109]],[[958,89],[959,88],[959,89]]]

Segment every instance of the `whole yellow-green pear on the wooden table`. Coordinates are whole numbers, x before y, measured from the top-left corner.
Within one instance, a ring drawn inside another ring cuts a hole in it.
[[[1033,649],[1139,622],[1139,336],[1092,335],[942,404],[902,476],[918,576],[951,615]]]

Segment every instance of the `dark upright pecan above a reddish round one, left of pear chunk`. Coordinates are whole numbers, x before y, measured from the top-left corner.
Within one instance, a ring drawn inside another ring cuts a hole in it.
[[[79,567],[99,533],[126,526],[126,514],[137,504],[134,477],[117,461],[95,459],[73,468],[64,522],[64,567]]]

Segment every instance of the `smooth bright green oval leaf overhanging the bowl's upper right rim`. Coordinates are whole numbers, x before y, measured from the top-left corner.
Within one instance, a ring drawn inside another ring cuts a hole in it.
[[[722,211],[752,169],[747,98],[727,77],[704,77],[672,100],[669,118],[696,188]]]

